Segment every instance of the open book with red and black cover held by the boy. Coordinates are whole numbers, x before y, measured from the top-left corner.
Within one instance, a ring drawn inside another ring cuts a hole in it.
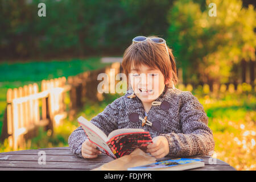
[[[97,149],[113,159],[128,155],[136,148],[146,152],[147,145],[152,143],[150,134],[143,129],[118,129],[106,136],[103,131],[84,117],[80,116],[78,122],[88,139],[98,146]]]

